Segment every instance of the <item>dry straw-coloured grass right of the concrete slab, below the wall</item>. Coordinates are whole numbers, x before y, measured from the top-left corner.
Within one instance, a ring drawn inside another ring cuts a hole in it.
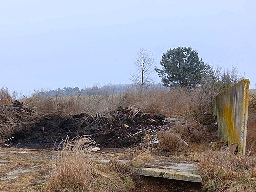
[[[256,157],[233,155],[226,151],[199,154],[203,191],[255,191]]]

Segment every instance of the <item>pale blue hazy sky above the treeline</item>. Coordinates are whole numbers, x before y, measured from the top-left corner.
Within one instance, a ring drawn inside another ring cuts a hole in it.
[[[28,94],[127,84],[140,48],[160,67],[167,49],[186,46],[211,66],[237,65],[255,88],[255,7],[255,0],[1,1],[0,87]]]

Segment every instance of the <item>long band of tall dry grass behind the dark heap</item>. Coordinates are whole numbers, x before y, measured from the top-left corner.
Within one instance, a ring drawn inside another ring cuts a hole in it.
[[[193,114],[210,112],[212,91],[205,88],[173,90],[154,87],[143,92],[128,89],[123,94],[106,91],[102,95],[81,95],[71,97],[41,97],[34,94],[24,97],[24,106],[36,110],[38,114],[54,113],[75,115],[80,113],[97,114],[133,106],[148,113]]]

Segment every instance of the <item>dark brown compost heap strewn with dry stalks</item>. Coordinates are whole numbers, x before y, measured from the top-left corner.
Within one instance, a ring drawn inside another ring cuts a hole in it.
[[[59,143],[67,136],[72,139],[88,135],[100,147],[133,147],[143,142],[147,132],[161,129],[165,119],[162,114],[146,114],[135,108],[120,108],[94,116],[86,113],[36,116],[22,104],[12,109],[15,113],[29,111],[30,116],[29,122],[16,124],[10,135],[14,137],[12,143]]]

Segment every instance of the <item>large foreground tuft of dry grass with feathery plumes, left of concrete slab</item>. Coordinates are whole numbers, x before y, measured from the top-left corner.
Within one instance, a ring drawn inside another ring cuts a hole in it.
[[[110,164],[90,159],[87,152],[95,143],[87,137],[63,141],[60,158],[45,191],[129,191],[134,187],[127,168],[116,161]]]

